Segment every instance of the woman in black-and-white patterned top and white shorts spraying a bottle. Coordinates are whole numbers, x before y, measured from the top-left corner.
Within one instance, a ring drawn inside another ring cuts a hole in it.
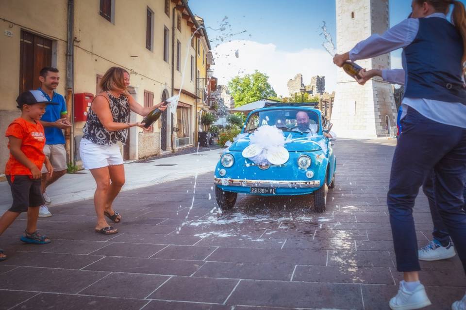
[[[125,183],[123,158],[117,142],[126,143],[130,127],[145,129],[144,123],[129,123],[130,110],[146,116],[153,109],[166,109],[162,103],[143,108],[128,93],[129,85],[128,71],[118,67],[108,69],[100,81],[102,92],[95,96],[91,104],[79,147],[84,168],[89,169],[96,180],[96,232],[103,234],[118,232],[108,225],[105,216],[115,223],[121,221],[121,215],[112,208],[113,201]]]

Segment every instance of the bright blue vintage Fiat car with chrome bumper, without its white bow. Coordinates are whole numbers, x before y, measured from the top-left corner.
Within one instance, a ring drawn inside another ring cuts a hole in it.
[[[214,172],[216,201],[229,209],[238,193],[251,195],[313,194],[310,206],[324,212],[328,188],[335,186],[336,158],[332,140],[324,136],[332,123],[327,122],[315,103],[266,103],[250,112],[241,134],[221,156]],[[300,118],[307,119],[304,124]],[[274,165],[255,163],[243,156],[250,145],[251,134],[264,125],[277,126],[286,139],[287,161]]]

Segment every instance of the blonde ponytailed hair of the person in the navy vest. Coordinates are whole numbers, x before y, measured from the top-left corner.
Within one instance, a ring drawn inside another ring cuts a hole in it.
[[[458,0],[416,0],[416,3],[422,5],[427,2],[433,6],[436,12],[448,13],[450,4],[453,4],[453,12],[451,13],[451,23],[455,25],[456,29],[460,32],[463,38],[463,58],[461,65],[463,67],[463,74],[466,73],[466,10],[465,5]]]

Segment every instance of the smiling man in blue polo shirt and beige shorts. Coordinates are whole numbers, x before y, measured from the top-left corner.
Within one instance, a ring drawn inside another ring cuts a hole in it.
[[[53,166],[51,176],[48,176],[45,166],[42,168],[42,195],[46,204],[48,204],[51,200],[46,191],[47,186],[67,173],[67,151],[65,150],[65,136],[62,129],[71,127],[71,123],[67,120],[65,98],[61,94],[54,92],[60,80],[58,69],[52,67],[42,68],[39,72],[39,80],[41,82],[39,90],[44,93],[49,101],[58,103],[58,105],[49,105],[40,120],[45,130],[46,144],[44,153]],[[52,214],[46,205],[40,207],[39,217],[51,216]]]

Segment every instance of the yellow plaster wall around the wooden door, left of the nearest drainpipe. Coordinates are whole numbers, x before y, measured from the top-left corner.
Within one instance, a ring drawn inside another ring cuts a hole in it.
[[[25,12],[25,8],[27,12]],[[53,8],[53,14],[50,12]],[[47,18],[44,18],[47,16]],[[61,0],[1,0],[0,1],[0,174],[9,156],[8,139],[4,133],[8,124],[20,113],[16,98],[19,94],[19,44],[21,29],[54,40],[52,65],[60,70],[62,80],[58,93],[65,93],[67,1]],[[65,25],[57,27],[57,25]],[[4,31],[11,31],[7,36]]]

